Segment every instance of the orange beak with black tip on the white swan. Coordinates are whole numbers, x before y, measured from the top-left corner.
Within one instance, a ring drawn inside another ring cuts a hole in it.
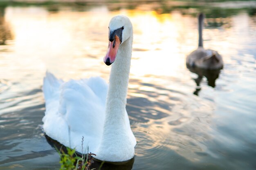
[[[120,44],[121,41],[117,35],[115,35],[115,39],[112,42],[109,42],[108,51],[103,60],[108,66],[115,61]]]

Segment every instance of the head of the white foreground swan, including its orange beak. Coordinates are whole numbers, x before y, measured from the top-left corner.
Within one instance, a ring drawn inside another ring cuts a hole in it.
[[[110,20],[108,29],[108,50],[103,61],[109,66],[115,61],[119,46],[132,36],[132,23],[128,17],[117,15]]]

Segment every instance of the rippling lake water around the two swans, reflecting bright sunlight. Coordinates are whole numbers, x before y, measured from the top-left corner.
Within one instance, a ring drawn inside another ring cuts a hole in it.
[[[58,170],[44,136],[43,77],[100,75],[108,22],[133,23],[127,112],[135,159],[109,169],[256,169],[256,3],[72,4],[0,8],[0,170]],[[197,14],[206,15],[204,47],[218,51],[220,72],[186,68],[197,48]],[[134,161],[134,162],[133,162]],[[108,169],[103,166],[102,169]]]

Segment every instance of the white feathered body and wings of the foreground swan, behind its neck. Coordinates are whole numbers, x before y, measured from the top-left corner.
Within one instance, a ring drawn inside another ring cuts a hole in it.
[[[99,146],[105,119],[108,85],[101,77],[63,82],[46,73],[43,84],[45,96],[45,133],[61,144],[82,152],[94,153]]]

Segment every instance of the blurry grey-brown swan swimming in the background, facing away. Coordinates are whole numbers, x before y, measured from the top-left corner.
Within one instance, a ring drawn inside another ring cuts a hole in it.
[[[222,56],[214,50],[204,49],[202,30],[204,24],[204,14],[198,16],[198,49],[186,57],[187,67],[198,67],[203,69],[221,69],[223,68]]]

